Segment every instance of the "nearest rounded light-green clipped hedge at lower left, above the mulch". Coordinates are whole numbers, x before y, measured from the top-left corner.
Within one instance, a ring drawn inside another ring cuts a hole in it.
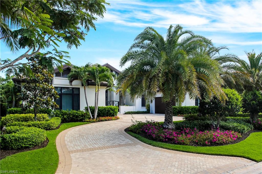
[[[10,126],[0,135],[3,149],[21,149],[40,145],[46,140],[46,131],[36,127]]]

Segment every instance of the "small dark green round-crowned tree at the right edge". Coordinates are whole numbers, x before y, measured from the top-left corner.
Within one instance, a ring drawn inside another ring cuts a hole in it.
[[[249,91],[243,94],[243,108],[245,112],[250,114],[250,122],[258,120],[258,114],[262,112],[262,92]]]

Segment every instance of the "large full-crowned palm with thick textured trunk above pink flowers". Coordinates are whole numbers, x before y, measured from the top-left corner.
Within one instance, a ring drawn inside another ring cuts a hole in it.
[[[171,25],[166,39],[154,28],[146,27],[120,61],[121,66],[128,61],[131,65],[124,69],[118,83],[123,91],[130,89],[133,100],[144,94],[150,100],[160,91],[166,103],[163,127],[173,128],[172,101],[181,105],[186,92],[190,98],[201,97],[201,87],[210,97],[226,99],[219,63],[199,51],[208,46],[212,46],[210,40],[182,30],[180,25]]]

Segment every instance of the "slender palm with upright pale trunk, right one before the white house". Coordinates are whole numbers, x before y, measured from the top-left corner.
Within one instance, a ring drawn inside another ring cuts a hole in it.
[[[111,73],[110,69],[107,67],[103,67],[99,64],[95,64],[94,66],[86,69],[85,71],[88,74],[88,78],[92,79],[95,82],[95,111],[94,111],[94,119],[96,119],[97,110],[98,110],[98,99],[99,99],[99,91],[100,91],[100,83],[107,82],[109,86],[109,90],[113,90],[112,86],[114,83],[114,78],[116,74]]]

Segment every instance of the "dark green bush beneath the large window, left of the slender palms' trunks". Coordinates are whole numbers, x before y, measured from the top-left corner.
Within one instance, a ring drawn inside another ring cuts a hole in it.
[[[90,115],[89,113],[86,113],[84,111],[75,111],[75,110],[54,110],[51,117],[59,117],[61,118],[61,121],[63,123],[69,123],[69,122],[82,122],[85,119],[89,119]]]

